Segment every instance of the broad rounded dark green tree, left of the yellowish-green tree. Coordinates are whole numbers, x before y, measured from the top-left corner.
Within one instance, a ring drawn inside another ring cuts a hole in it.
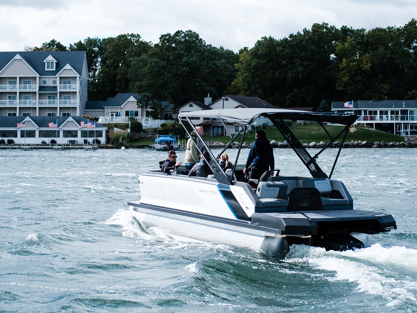
[[[146,68],[139,72],[144,80],[136,83],[136,91],[180,106],[202,100],[207,93],[221,95],[236,76],[238,56],[207,45],[191,30],[178,30],[161,35],[146,61]]]

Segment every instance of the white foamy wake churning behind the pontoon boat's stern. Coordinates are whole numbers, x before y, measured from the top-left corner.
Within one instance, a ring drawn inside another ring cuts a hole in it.
[[[380,295],[388,301],[387,306],[392,307],[403,301],[417,300],[417,282],[403,277],[403,273],[410,273],[410,270],[417,273],[416,256],[417,250],[414,249],[385,248],[379,244],[343,252],[294,245],[286,261],[335,272],[335,275],[324,277],[331,281],[348,280],[357,283],[359,292]]]

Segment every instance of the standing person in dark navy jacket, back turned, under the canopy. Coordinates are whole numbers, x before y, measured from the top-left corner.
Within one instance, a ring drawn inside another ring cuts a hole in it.
[[[251,151],[249,151],[243,173],[246,174],[248,167],[253,164],[249,179],[260,179],[261,175],[269,170],[269,167],[271,167],[271,176],[273,176],[275,166],[274,150],[266,138],[265,131],[256,131],[255,139],[256,141],[252,144]]]

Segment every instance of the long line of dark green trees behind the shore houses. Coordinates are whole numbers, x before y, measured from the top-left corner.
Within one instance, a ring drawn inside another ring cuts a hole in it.
[[[262,37],[239,53],[216,48],[192,30],[161,35],[152,44],[139,34],[86,38],[65,47],[51,40],[25,50],[86,52],[88,99],[138,92],[138,105],[158,115],[160,101],[181,106],[209,93],[257,96],[277,107],[325,111],[332,101],[415,99],[417,21],[400,27],[353,29],[315,23],[275,39]]]

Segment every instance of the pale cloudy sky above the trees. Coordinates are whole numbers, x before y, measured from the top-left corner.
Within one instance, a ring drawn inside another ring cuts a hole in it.
[[[416,0],[0,0],[0,51],[125,33],[157,43],[161,34],[191,29],[237,52],[262,36],[283,38],[313,23],[369,30],[412,18]]]

